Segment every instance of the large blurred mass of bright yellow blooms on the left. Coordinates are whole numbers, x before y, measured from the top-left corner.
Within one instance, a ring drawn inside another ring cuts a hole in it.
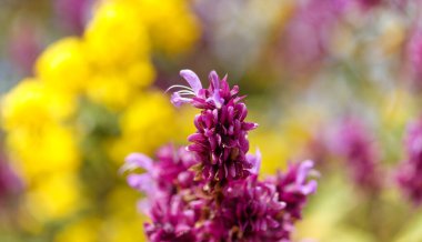
[[[68,2],[58,1],[58,8]],[[71,4],[79,11],[74,17],[90,13],[87,26],[50,44],[31,68],[33,77],[2,97],[4,143],[26,184],[26,218],[42,228],[40,234],[63,234],[59,241],[71,240],[73,230],[104,236],[101,226],[113,223],[108,233],[127,234],[108,238],[132,241],[138,228],[130,231],[125,220],[137,218],[115,209],[132,203],[127,193],[117,195],[129,189],[115,169],[129,151],[152,153],[181,127],[165,94],[153,87],[158,70],[151,59],[187,52],[199,38],[199,24],[183,0]],[[111,210],[107,215],[93,205],[99,198],[112,203],[102,203]],[[79,213],[82,209],[90,212]],[[63,225],[52,232],[44,226],[50,222]],[[97,229],[88,231],[86,223]]]

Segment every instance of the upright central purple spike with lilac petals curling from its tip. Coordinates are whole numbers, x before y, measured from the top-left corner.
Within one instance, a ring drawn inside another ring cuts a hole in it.
[[[188,138],[192,142],[188,147],[200,163],[203,179],[209,181],[233,180],[245,178],[252,169],[248,160],[248,131],[258,127],[245,122],[248,110],[239,97],[239,87],[230,89],[227,77],[220,79],[215,71],[209,75],[210,87],[203,89],[198,75],[190,70],[182,70],[183,77],[191,88],[182,88],[172,95],[172,103],[191,103],[201,109],[195,117],[197,132]]]

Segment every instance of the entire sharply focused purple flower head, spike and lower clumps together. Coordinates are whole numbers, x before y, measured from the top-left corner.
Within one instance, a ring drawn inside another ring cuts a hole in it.
[[[248,154],[247,107],[239,88],[212,71],[210,87],[182,70],[191,88],[172,95],[172,102],[201,109],[194,119],[192,144],[163,147],[157,161],[133,153],[123,171],[135,169],[128,183],[147,194],[140,209],[150,218],[145,233],[151,241],[290,241],[294,222],[308,195],[316,189],[309,181],[312,161],[292,164],[264,181],[258,179],[261,157]]]

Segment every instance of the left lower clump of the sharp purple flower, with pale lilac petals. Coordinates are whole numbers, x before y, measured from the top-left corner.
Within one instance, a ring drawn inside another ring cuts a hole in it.
[[[121,169],[145,171],[127,178],[129,185],[147,195],[140,201],[140,209],[152,221],[144,224],[145,233],[152,242],[197,241],[195,223],[203,205],[199,195],[202,185],[190,170],[195,163],[193,154],[184,148],[165,145],[157,152],[157,159],[153,162],[144,154],[132,153]]]

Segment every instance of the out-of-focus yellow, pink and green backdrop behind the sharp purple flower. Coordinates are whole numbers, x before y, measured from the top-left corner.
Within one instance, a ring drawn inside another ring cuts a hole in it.
[[[418,0],[0,0],[0,241],[144,241],[118,171],[130,152],[187,144],[197,111],[164,93],[187,68],[248,94],[263,177],[315,161],[294,241],[422,241],[406,195],[422,181],[396,179],[421,114],[421,13]]]

